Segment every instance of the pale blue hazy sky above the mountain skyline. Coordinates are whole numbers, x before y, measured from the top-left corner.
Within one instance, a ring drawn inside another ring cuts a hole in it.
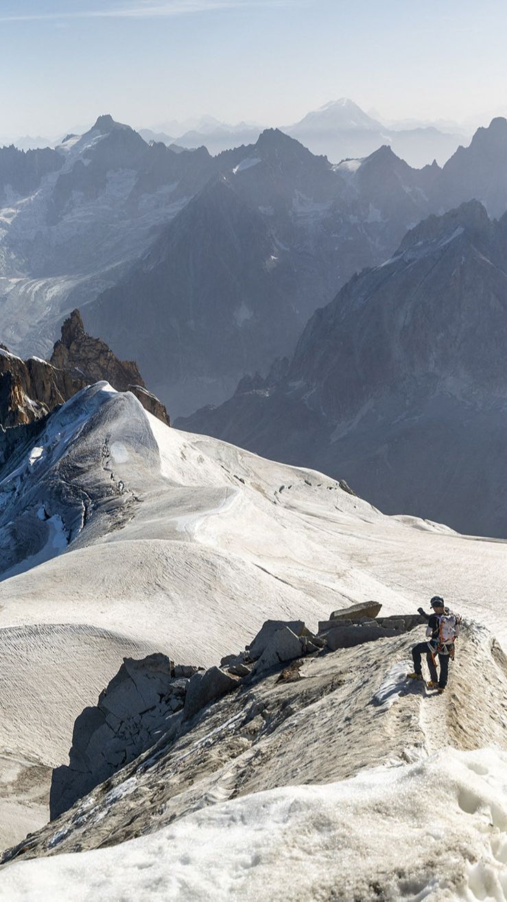
[[[386,118],[507,111],[504,0],[0,0],[0,135],[99,113],[290,124],[337,97]]]

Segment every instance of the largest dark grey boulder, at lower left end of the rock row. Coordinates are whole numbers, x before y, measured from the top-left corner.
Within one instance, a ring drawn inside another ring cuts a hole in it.
[[[183,707],[188,685],[171,676],[165,655],[124,658],[97,707],[85,708],[74,723],[69,766],[52,774],[51,819],[149,749],[167,717]]]

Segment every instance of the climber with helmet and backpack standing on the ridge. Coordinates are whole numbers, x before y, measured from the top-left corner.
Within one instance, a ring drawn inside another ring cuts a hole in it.
[[[420,658],[426,653],[429,669],[429,689],[438,689],[442,693],[447,686],[449,659],[454,659],[454,643],[459,634],[461,617],[457,617],[446,607],[444,599],[440,595],[434,595],[430,601],[432,614],[427,614],[419,608],[419,614],[428,621],[426,635],[428,641],[419,642],[412,649],[414,671],[410,673],[410,679],[422,679]],[[440,664],[440,676],[437,673],[437,656]]]

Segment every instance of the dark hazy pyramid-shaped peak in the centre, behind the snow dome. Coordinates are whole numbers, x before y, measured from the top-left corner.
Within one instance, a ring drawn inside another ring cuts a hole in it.
[[[86,320],[122,354],[136,347],[155,391],[171,391],[171,403],[192,410],[203,391],[213,400],[232,391],[246,361],[267,368],[281,343],[295,345],[295,289],[290,253],[230,180],[218,178],[123,284],[88,306]]]

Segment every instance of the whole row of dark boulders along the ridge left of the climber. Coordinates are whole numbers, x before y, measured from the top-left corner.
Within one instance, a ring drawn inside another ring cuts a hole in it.
[[[299,658],[393,638],[426,622],[419,614],[379,619],[359,616],[380,607],[365,602],[334,612],[348,612],[349,618],[332,614],[329,621],[319,624],[323,629],[317,635],[303,621],[265,621],[244,651],[226,655],[220,667],[206,671],[189,665],[175,667],[161,654],[143,660],[124,658],[99,696],[97,707],[86,708],[74,724],[69,766],[53,771],[51,819],[164,735],[175,737],[192,729],[198,715],[224,695],[243,686],[257,686],[272,672],[280,671],[282,680],[291,681],[297,678]],[[290,662],[296,670],[284,669]]]

